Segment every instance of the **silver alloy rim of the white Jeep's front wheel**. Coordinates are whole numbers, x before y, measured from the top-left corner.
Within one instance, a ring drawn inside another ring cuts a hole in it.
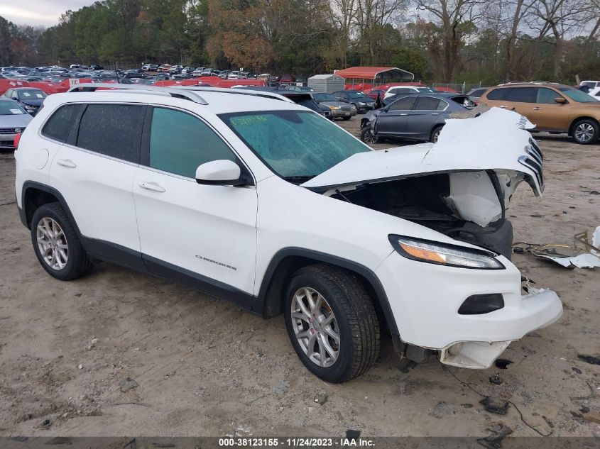
[[[310,287],[298,289],[292,299],[295,337],[308,359],[320,367],[332,366],[339,357],[339,327],[331,306]]]

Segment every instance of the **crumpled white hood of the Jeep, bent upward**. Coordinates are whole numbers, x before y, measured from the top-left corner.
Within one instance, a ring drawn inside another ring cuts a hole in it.
[[[543,190],[542,157],[526,131],[532,128],[527,118],[499,108],[475,118],[447,119],[435,144],[357,153],[301,185],[333,188],[418,174],[494,170],[524,174],[539,196]]]

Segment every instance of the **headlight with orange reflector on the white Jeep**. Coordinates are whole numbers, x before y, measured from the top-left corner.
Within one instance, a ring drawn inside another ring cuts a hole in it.
[[[388,235],[393,248],[407,259],[418,260],[447,267],[476,268],[479,270],[502,270],[504,265],[493,253],[466,248],[460,245],[437,243],[431,240]]]

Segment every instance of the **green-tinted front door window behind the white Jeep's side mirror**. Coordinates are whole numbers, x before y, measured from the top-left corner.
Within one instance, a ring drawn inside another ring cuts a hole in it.
[[[196,177],[204,162],[236,155],[222,138],[198,118],[173,109],[155,108],[150,131],[150,167],[163,172]]]

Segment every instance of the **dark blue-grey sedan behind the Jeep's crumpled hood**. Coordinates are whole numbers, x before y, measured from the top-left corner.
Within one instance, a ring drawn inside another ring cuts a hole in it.
[[[396,97],[396,96],[395,96]],[[451,113],[469,111],[463,94],[400,94],[385,100],[387,106],[369,112],[361,120],[361,140],[377,143],[381,138],[408,138],[437,142]]]

